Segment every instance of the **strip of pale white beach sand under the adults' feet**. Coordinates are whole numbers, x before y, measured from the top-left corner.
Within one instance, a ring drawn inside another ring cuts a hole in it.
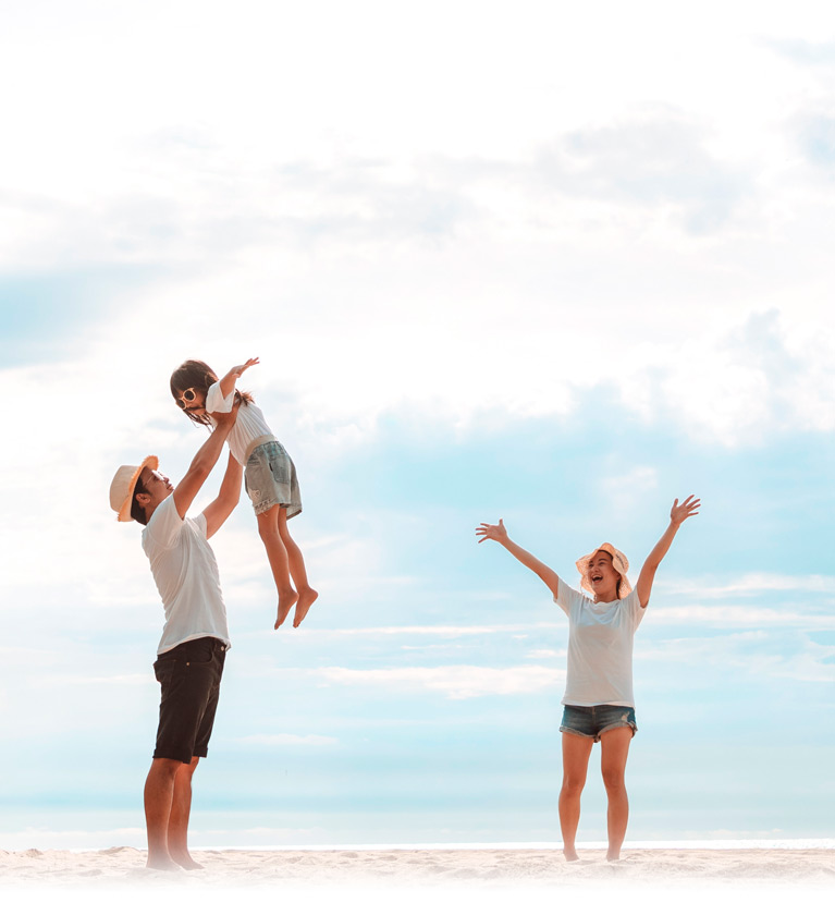
[[[581,864],[543,849],[380,851],[195,851],[204,870],[149,871],[145,853],[0,851],[0,884],[38,887],[140,886],[379,888],[498,886],[528,888],[710,884],[827,888],[835,908],[833,850],[635,850],[609,864],[602,851],[581,852]]]

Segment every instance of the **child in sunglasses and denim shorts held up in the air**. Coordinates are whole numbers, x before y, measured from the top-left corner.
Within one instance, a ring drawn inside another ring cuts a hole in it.
[[[231,368],[220,380],[206,363],[187,359],[171,375],[171,394],[194,423],[213,427],[212,413],[229,413],[240,403],[229,435],[229,448],[246,468],[245,486],[253,500],[258,533],[279,590],[278,629],[295,606],[293,626],[299,625],[319,597],[307,582],[302,550],[287,530],[287,520],[302,511],[296,468],[287,452],[270,431],[253,395],[235,390],[237,379],[258,359]],[[291,576],[297,591],[293,589]]]

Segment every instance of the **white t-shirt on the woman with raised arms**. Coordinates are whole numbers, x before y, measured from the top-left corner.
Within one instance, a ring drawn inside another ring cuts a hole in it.
[[[646,608],[638,591],[594,603],[560,578],[558,603],[568,617],[568,673],[563,705],[635,708],[633,639]]]

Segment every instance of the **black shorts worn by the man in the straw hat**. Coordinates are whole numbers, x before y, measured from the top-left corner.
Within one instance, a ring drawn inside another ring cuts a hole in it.
[[[157,657],[162,688],[155,759],[191,762],[206,756],[214,724],[226,646],[219,638],[183,642]]]

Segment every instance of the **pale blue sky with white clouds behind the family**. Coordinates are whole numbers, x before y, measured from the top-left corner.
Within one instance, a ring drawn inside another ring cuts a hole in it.
[[[686,5],[4,4],[0,847],[144,844],[162,608],[108,490],[204,441],[176,365],[250,356],[321,597],[273,632],[243,495],[194,845],[558,841],[565,617],[475,527],[577,587],[691,492],[627,838],[833,838],[835,17]]]

